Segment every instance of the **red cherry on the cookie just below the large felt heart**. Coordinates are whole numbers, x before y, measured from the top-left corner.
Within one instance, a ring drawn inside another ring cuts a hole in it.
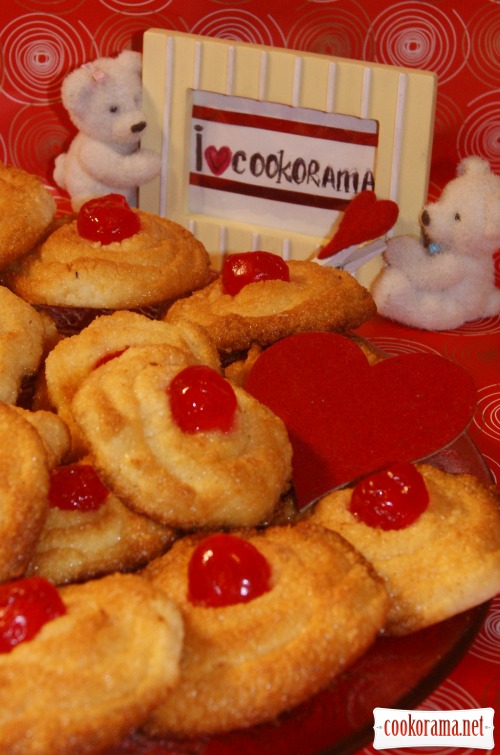
[[[424,478],[413,464],[401,462],[360,480],[349,510],[370,527],[399,530],[416,521],[428,504]]]

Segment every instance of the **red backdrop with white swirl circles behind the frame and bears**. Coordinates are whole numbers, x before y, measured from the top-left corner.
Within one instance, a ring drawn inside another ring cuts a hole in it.
[[[0,160],[51,182],[72,127],[60,103],[73,68],[158,26],[435,71],[431,194],[466,155],[500,170],[500,7],[494,0],[17,0],[0,9]]]

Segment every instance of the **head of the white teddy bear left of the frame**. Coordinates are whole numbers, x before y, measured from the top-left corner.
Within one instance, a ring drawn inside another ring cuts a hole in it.
[[[77,129],[107,144],[137,144],[147,125],[141,110],[141,70],[142,55],[125,50],[69,73],[61,98]]]

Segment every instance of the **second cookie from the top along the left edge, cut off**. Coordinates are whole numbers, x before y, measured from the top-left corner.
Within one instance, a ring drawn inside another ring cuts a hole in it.
[[[36,373],[53,342],[47,318],[0,286],[0,401],[16,403],[23,380]]]

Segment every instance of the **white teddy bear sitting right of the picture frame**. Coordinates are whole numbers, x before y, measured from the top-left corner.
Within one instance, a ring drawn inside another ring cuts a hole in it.
[[[379,314],[448,330],[500,313],[493,255],[500,247],[500,176],[486,160],[461,161],[457,177],[420,216],[424,242],[396,236],[372,286]]]

